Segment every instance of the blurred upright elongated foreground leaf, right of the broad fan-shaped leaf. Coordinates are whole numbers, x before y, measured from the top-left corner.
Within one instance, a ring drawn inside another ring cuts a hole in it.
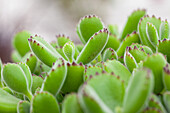
[[[135,70],[124,97],[123,113],[141,111],[153,91],[153,83],[153,74],[149,69]]]

